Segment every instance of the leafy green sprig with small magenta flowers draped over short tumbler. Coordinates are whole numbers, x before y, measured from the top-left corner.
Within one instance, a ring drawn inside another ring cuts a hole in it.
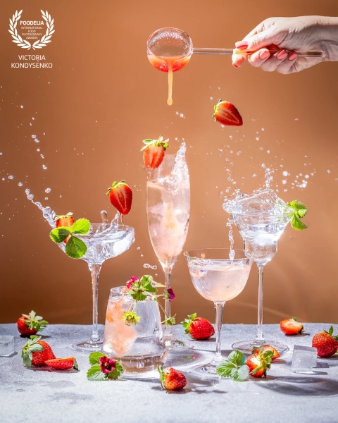
[[[129,294],[134,299],[134,301],[130,305],[127,312],[124,312],[123,314],[123,320],[127,326],[137,324],[139,319],[141,319],[141,317],[137,316],[135,311],[137,302],[144,301],[148,297],[151,297],[154,301],[157,301],[158,306],[163,311],[165,319],[162,321],[162,324],[164,324],[165,327],[173,326],[173,324],[175,324],[175,316],[168,316],[168,314],[165,312],[165,309],[161,305],[161,302],[158,301],[158,298],[160,297],[171,301],[175,298],[175,294],[170,288],[169,290],[165,289],[163,294],[154,295],[158,291],[157,288],[165,288],[165,286],[162,283],[155,282],[153,276],[151,275],[144,275],[141,278],[135,278],[134,276],[130,278],[130,281],[127,282],[126,293]]]

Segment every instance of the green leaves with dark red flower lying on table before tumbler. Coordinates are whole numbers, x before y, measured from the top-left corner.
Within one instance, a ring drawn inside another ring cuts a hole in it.
[[[87,372],[89,381],[118,380],[123,375],[123,366],[102,353],[90,353],[89,364],[92,367]]]

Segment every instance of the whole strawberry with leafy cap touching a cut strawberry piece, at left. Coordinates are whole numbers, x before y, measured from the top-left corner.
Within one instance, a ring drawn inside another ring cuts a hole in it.
[[[31,336],[27,338],[27,343],[21,350],[23,364],[27,367],[44,366],[47,360],[53,360],[55,357],[51,346],[45,341],[40,341],[41,336]]]

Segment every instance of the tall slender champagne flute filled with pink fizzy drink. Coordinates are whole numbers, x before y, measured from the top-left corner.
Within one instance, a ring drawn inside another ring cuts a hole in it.
[[[165,154],[158,168],[149,169],[146,183],[146,214],[151,245],[165,275],[165,288],[171,288],[173,266],[187,239],[190,216],[189,171],[185,148],[181,154]],[[165,300],[165,312],[170,316],[170,301]],[[173,339],[170,326],[164,331],[165,346],[184,346]]]

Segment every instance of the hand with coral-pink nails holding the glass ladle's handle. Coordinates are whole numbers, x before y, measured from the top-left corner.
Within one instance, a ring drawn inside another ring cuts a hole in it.
[[[268,47],[277,47],[278,52],[272,54]],[[338,60],[338,18],[268,18],[237,42],[236,48],[254,51],[248,56],[233,54],[232,64],[236,68],[247,59],[263,71],[284,74],[303,71],[322,61]],[[322,50],[325,57],[301,57],[295,50]]]

